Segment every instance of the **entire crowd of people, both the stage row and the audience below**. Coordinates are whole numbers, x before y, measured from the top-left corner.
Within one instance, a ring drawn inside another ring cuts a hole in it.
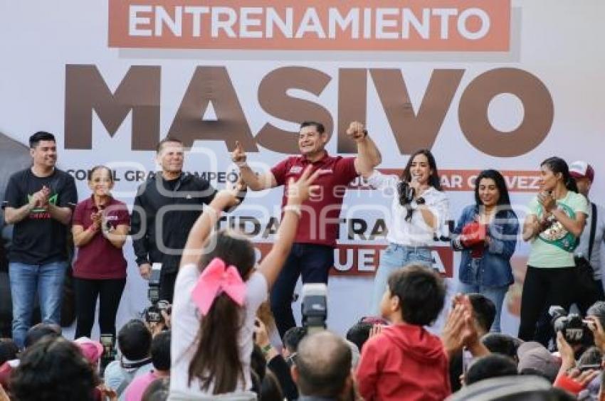
[[[544,160],[522,225],[503,175],[481,171],[474,202],[449,232],[431,151],[414,152],[401,176],[389,176],[376,169],[382,157],[363,124],[352,122],[347,135],[357,156],[330,156],[323,125],[304,122],[300,154],[265,173],[236,144],[240,181],[222,191],[185,173],[183,144],[163,139],[162,170],[129,213],[112,197],[106,166],[90,169],[90,196],[78,202],[74,179],[56,168],[53,134],[33,134],[32,166],[11,176],[3,203],[14,225],[13,321],[12,338],[0,341],[0,400],[605,400],[605,215],[588,198],[594,169]],[[368,316],[346,336],[297,326],[295,285],[327,284],[344,193],[358,176],[392,198]],[[277,186],[281,222],[257,261],[248,237],[217,223],[248,189]],[[116,330],[129,236],[164,306]],[[518,237],[530,255],[514,337],[500,333],[500,316]],[[461,252],[451,304],[431,256],[444,238]],[[59,326],[67,269],[73,341]],[[32,326],[36,299],[41,323]],[[100,341],[90,338],[97,302]],[[579,314],[567,314],[572,304]],[[442,313],[436,335],[426,327]]]

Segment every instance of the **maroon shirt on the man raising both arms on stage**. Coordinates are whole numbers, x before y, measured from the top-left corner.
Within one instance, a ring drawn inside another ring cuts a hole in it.
[[[320,186],[320,193],[302,203],[302,215],[294,242],[336,246],[342,199],[349,182],[358,176],[354,161],[353,157],[332,157],[327,153],[315,163],[308,161],[305,156],[290,156],[271,169],[278,185],[286,187],[282,207],[288,201],[286,190],[290,178],[298,180],[309,164],[313,165],[313,172],[320,170],[320,175],[313,183]]]

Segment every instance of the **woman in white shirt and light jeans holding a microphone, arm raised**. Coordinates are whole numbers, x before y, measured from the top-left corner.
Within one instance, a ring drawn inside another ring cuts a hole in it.
[[[393,193],[389,246],[380,258],[374,278],[371,314],[378,314],[389,274],[412,262],[433,266],[431,245],[435,237],[447,236],[449,201],[441,191],[437,164],[428,149],[414,152],[401,177],[384,175],[357,156],[361,173],[374,188]]]

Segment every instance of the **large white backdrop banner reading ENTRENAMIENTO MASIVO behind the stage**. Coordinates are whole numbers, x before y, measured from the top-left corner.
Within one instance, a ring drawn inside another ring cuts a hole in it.
[[[344,134],[349,122],[364,122],[386,172],[431,149],[453,219],[473,203],[476,174],[494,168],[522,220],[540,161],[553,155],[593,164],[591,197],[604,198],[601,0],[316,3],[2,1],[0,132],[22,144],[41,129],[55,133],[59,166],[75,176],[80,200],[90,196],[86,171],[106,164],[114,196],[131,208],[157,169],[159,139],[184,141],[186,171],[222,188],[237,177],[228,155],[235,141],[265,171],[298,153],[305,120],[325,124],[328,151],[342,156],[356,149]],[[262,257],[281,195],[248,193],[221,226],[250,235]],[[347,189],[329,296],[329,325],[341,333],[371,314],[390,200],[362,180]],[[527,252],[520,241],[508,333],[517,330]],[[147,302],[130,240],[125,253],[119,325]],[[437,242],[433,256],[453,293],[459,255]]]

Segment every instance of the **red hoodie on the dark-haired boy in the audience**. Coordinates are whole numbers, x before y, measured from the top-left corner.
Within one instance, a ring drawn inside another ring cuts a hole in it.
[[[366,401],[441,401],[451,394],[448,369],[440,338],[421,326],[389,326],[362,348],[359,392]]]

